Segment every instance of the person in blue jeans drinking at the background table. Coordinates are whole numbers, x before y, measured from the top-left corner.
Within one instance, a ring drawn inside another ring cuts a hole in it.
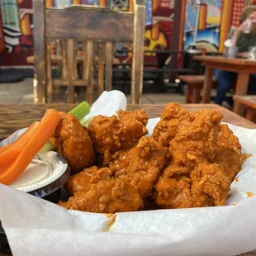
[[[250,31],[248,33],[247,22],[251,22]],[[244,8],[239,19],[239,27],[232,27],[228,36],[228,43],[231,46],[237,46],[240,57],[247,58],[249,47],[256,46],[256,6]],[[226,41],[227,42],[227,41]],[[226,43],[225,42],[225,43]],[[214,102],[221,105],[225,100],[225,94],[230,91],[232,84],[237,78],[237,73],[216,69],[216,80],[219,82],[217,94]],[[248,93],[256,92],[256,74],[250,75]],[[233,100],[229,102],[233,105]]]

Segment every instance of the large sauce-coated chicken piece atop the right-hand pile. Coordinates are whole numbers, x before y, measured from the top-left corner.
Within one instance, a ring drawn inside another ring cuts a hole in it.
[[[212,161],[218,152],[217,140],[220,135],[219,111],[200,111],[193,121],[183,121],[178,132],[169,143],[173,165],[192,169],[197,164]]]

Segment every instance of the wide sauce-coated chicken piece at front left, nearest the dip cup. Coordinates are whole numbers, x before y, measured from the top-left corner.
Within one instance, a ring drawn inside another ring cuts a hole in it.
[[[99,169],[98,172],[107,174],[107,168],[103,171]],[[111,175],[111,172],[108,173]],[[73,181],[76,178],[78,176],[73,178]],[[82,178],[79,180],[81,181]],[[80,186],[81,184],[86,186]],[[59,201],[60,206],[69,210],[115,213],[137,211],[143,205],[137,188],[119,178],[103,175],[88,183],[79,184],[77,180],[77,185],[78,187],[73,187],[73,197],[69,197],[67,202]]]

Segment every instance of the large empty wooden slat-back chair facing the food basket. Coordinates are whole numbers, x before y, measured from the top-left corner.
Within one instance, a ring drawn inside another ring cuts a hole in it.
[[[95,49],[98,46],[98,93],[111,90],[113,49],[116,41],[132,42],[131,102],[142,94],[145,5],[134,4],[134,13],[114,12],[101,7],[46,8],[45,0],[33,0],[35,44],[35,103],[51,102],[54,87],[69,88],[68,102],[74,102],[74,87],[87,87],[87,101],[93,102]],[[52,79],[50,42],[62,40],[67,77]],[[82,41],[83,75],[76,73],[75,40]],[[106,67],[106,68],[105,68]],[[105,75],[104,75],[105,74]]]

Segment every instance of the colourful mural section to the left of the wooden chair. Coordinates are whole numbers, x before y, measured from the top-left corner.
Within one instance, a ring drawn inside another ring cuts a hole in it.
[[[26,64],[26,56],[33,55],[32,2],[1,0],[0,7],[0,52],[5,53],[2,64]]]

